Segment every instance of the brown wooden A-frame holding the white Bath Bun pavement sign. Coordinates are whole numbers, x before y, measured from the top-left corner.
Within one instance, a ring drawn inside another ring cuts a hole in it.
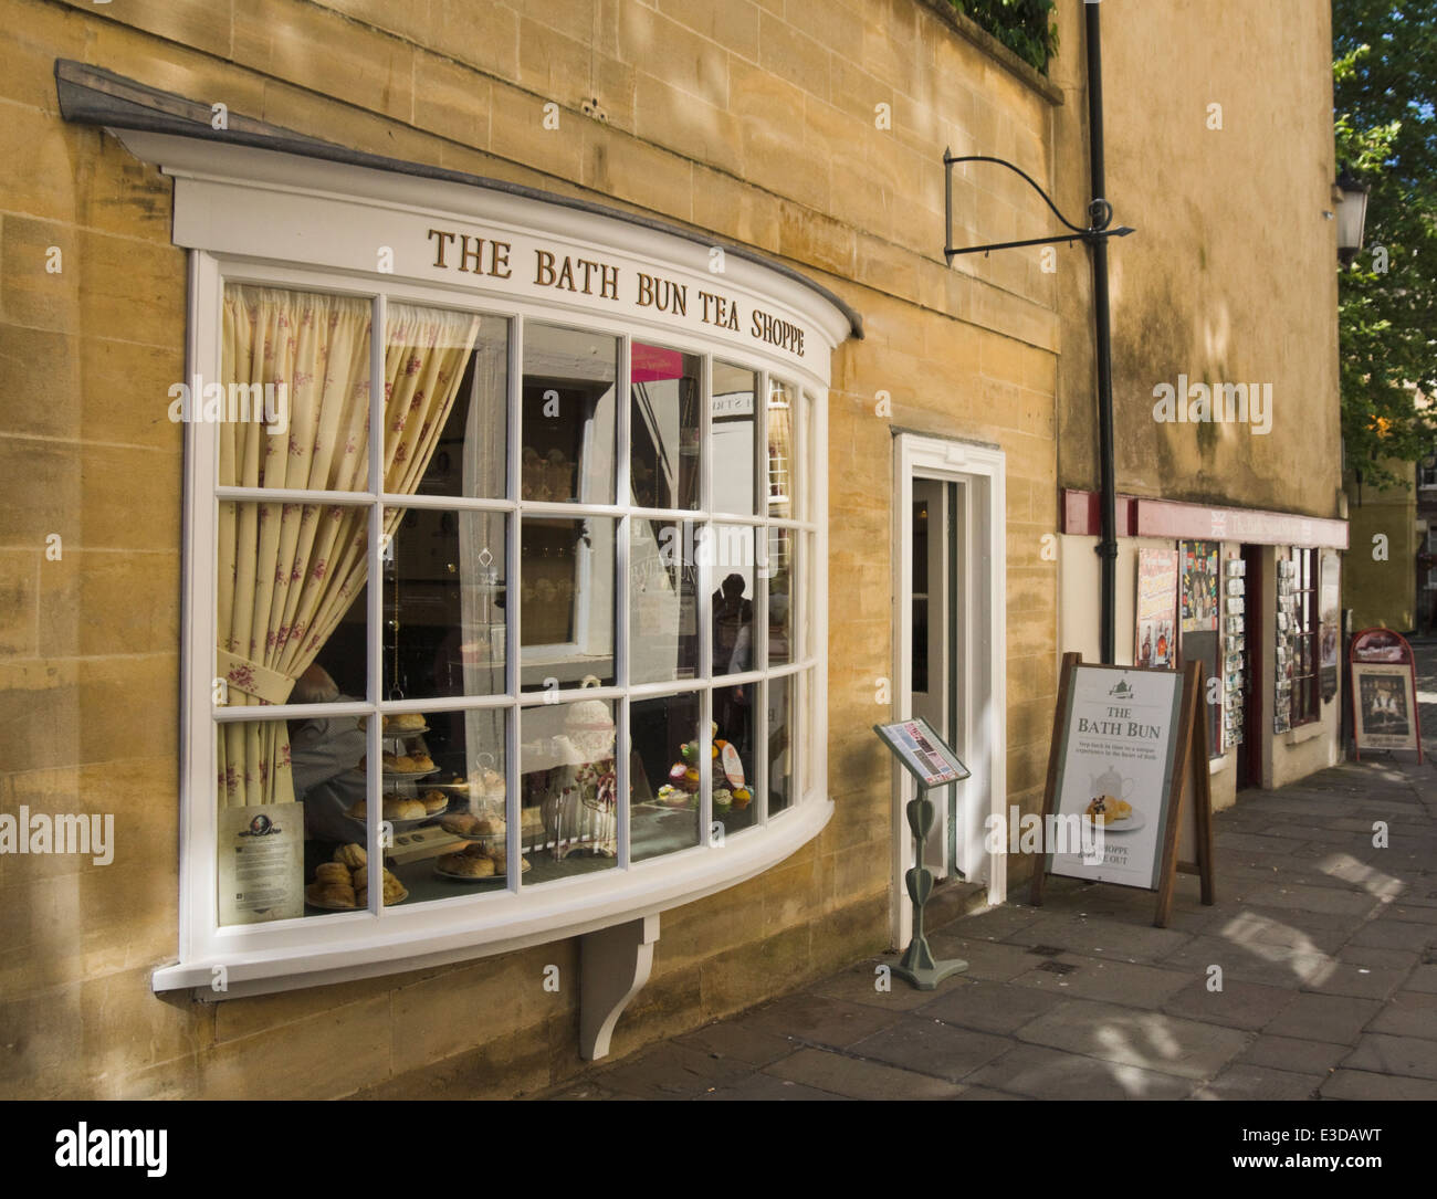
[[[1066,721],[1072,717],[1071,701],[1076,668],[1083,665],[1081,653],[1065,653],[1062,675],[1058,684],[1058,704],[1053,711],[1053,740],[1048,755],[1048,781],[1043,788],[1043,829],[1050,826],[1049,817],[1056,813],[1058,804],[1058,774],[1062,770],[1062,752],[1066,744]],[[1106,663],[1092,663],[1105,666]],[[1148,666],[1106,666],[1112,671],[1131,671],[1135,673],[1174,673]],[[1158,846],[1163,854],[1157,883],[1157,910],[1152,923],[1157,928],[1167,928],[1173,912],[1173,889],[1177,882],[1177,872],[1197,874],[1201,886],[1201,902],[1211,906],[1216,902],[1213,886],[1213,791],[1211,775],[1207,765],[1207,719],[1203,711],[1203,665],[1188,662],[1183,671],[1181,706],[1178,709],[1174,735],[1177,752],[1173,760],[1173,777],[1168,784],[1168,794],[1164,800],[1167,820],[1163,824],[1163,839]],[[1196,862],[1178,860],[1178,840],[1183,830],[1184,811],[1183,794],[1186,783],[1193,784],[1193,850]],[[1048,880],[1050,854],[1045,853],[1033,870],[1030,902],[1035,908],[1043,903],[1043,885]],[[1109,883],[1109,886],[1129,886],[1135,890],[1154,890],[1154,887],[1140,887],[1135,883]]]

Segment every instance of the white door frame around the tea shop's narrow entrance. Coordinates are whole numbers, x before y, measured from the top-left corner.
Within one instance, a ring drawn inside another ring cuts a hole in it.
[[[967,767],[973,777],[958,787],[960,864],[970,880],[983,880],[989,902],[1007,895],[1007,862],[983,849],[986,817],[1004,816],[1007,804],[1007,533],[1006,458],[992,445],[895,434],[894,454],[894,719],[908,719],[912,688],[912,480],[935,478],[964,488],[958,563],[966,603],[958,630],[964,653],[958,685],[969,689],[961,705],[966,721]],[[954,597],[957,600],[957,597]],[[987,695],[986,706],[979,699]],[[954,701],[957,696],[954,696]],[[912,833],[907,804],[912,778],[892,764],[892,885],[890,926],[892,943],[912,936],[912,908],[904,874],[912,866]]]

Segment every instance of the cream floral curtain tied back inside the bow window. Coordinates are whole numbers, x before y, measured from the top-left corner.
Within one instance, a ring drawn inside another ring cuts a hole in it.
[[[283,386],[289,428],[220,425],[221,487],[368,485],[369,316],[362,299],[226,287],[224,386],[273,385],[274,408]],[[385,490],[418,490],[477,332],[474,316],[389,304]],[[369,508],[277,501],[218,508],[217,663],[228,702],[283,704],[364,587]],[[387,533],[401,515],[385,513]],[[221,807],[293,801],[285,721],[224,724],[217,732]]]

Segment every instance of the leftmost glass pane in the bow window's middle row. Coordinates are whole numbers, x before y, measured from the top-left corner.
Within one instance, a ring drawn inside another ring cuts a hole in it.
[[[287,702],[316,655],[348,696],[365,698],[369,511],[217,505],[216,629],[228,704]]]

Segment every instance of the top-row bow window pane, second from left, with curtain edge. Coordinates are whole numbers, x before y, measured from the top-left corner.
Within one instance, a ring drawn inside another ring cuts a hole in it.
[[[470,325],[477,322],[477,333]],[[435,345],[430,345],[430,336]],[[468,353],[464,345],[471,342]],[[414,349],[422,345],[424,349]],[[421,495],[467,495],[502,500],[507,495],[509,455],[509,322],[499,317],[468,317],[457,313],[430,312],[408,304],[389,304],[389,355],[408,353],[404,368],[418,363],[415,375],[401,373],[385,395],[395,406],[405,402],[407,412],[392,412],[385,422],[385,459],[404,447],[408,457],[415,447],[428,449],[428,459],[418,475],[395,471],[398,480],[418,478],[417,487],[389,490],[418,491]],[[458,386],[450,388],[453,372],[461,372]],[[425,375],[428,378],[425,378]],[[412,383],[412,385],[411,385]],[[443,401],[451,393],[447,412],[430,403],[431,391]],[[438,438],[428,445],[434,428]]]

